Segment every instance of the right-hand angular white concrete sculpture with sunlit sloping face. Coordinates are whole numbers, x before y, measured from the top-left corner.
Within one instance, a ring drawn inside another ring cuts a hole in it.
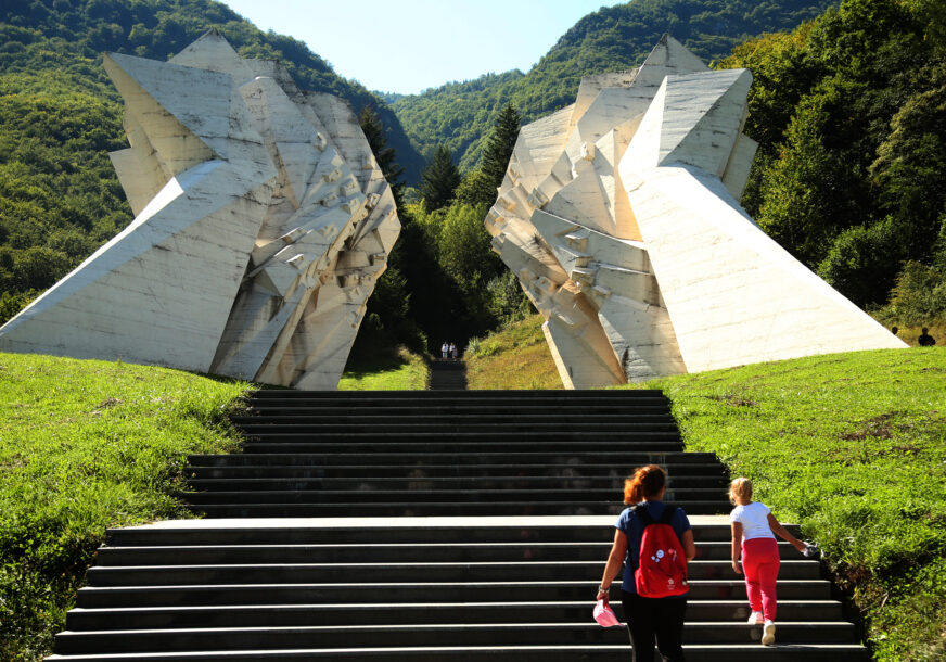
[[[486,228],[566,387],[906,346],[739,206],[751,82],[665,36],[522,128]]]

